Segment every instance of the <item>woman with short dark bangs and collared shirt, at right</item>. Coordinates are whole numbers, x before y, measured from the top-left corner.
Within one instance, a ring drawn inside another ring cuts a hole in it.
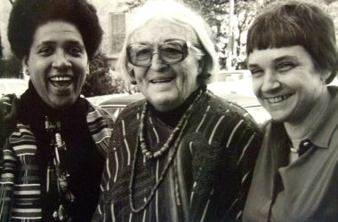
[[[273,5],[249,28],[246,52],[272,120],[244,221],[337,221],[338,88],[327,86],[338,70],[333,20],[305,2]]]

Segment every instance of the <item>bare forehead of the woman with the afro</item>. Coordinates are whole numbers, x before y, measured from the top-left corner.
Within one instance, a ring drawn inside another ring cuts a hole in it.
[[[33,44],[44,42],[77,42],[84,44],[83,38],[77,28],[65,21],[49,21],[36,28]]]

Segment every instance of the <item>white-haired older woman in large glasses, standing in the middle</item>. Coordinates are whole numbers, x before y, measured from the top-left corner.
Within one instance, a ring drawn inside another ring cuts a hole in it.
[[[174,2],[133,15],[120,64],[145,99],[114,125],[97,221],[241,218],[262,136],[244,109],[206,90],[217,71],[207,30]]]

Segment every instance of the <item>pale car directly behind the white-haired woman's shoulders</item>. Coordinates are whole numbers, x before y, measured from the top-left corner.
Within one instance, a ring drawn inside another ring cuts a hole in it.
[[[213,91],[213,85],[208,85],[208,88]],[[217,93],[215,93],[217,94]],[[270,119],[269,113],[262,107],[259,101],[250,95],[238,94],[236,92],[225,92],[219,94],[221,98],[227,99],[231,102],[237,103],[237,105],[244,107],[245,110],[254,117],[254,120],[262,125]],[[144,96],[141,93],[131,94],[122,97],[115,97],[101,102],[100,107],[107,110],[109,115],[115,121],[117,115],[129,104],[144,99]]]

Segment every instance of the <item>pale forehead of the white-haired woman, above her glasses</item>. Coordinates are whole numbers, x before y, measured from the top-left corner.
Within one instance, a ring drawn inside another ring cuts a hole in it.
[[[169,20],[150,20],[141,28],[136,29],[131,36],[131,43],[147,42],[157,44],[168,38],[181,38],[197,44],[195,31]]]

